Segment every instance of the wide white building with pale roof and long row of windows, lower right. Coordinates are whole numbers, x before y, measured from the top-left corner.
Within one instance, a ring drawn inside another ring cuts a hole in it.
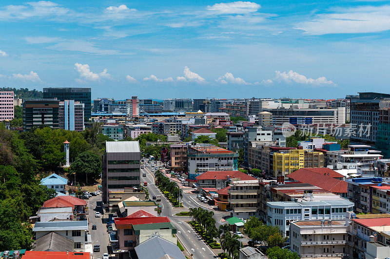
[[[345,220],[353,203],[340,197],[334,201],[268,202],[268,224],[279,226],[283,236],[290,235],[290,222]]]

